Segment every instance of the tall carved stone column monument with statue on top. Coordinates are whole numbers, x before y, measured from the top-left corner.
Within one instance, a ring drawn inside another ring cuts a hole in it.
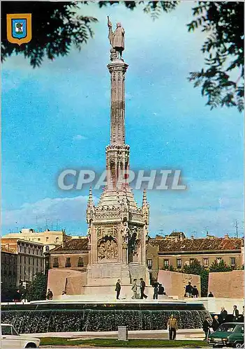
[[[98,205],[91,189],[87,205],[89,225],[89,264],[87,294],[114,294],[117,279],[121,294],[131,295],[133,279],[142,277],[149,285],[146,267],[146,241],[149,226],[149,204],[143,193],[142,207],[133,197],[125,172],[129,169],[130,147],[125,143],[125,76],[128,64],[122,59],[124,34],[121,23],[112,31],[107,19],[110,60],[107,65],[111,80],[110,145],[106,147],[107,184]]]

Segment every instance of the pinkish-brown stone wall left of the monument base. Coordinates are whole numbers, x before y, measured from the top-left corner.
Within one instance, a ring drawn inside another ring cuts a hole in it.
[[[59,268],[50,269],[48,271],[47,288],[52,290],[54,299],[61,296],[62,291],[65,290],[65,287],[67,295],[79,295],[81,293],[82,286],[86,285],[86,283],[86,272]]]

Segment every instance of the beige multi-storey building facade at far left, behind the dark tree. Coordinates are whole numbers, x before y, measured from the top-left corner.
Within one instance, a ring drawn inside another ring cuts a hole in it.
[[[1,239],[1,247],[17,255],[17,287],[26,287],[37,273],[44,273],[43,244],[4,237]]]

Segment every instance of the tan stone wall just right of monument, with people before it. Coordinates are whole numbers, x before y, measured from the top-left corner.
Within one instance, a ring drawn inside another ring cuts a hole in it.
[[[191,282],[192,285],[197,286],[200,295],[199,275],[169,272],[167,270],[159,270],[158,272],[158,283],[163,285],[168,296],[183,298],[185,286],[188,284],[188,282]]]

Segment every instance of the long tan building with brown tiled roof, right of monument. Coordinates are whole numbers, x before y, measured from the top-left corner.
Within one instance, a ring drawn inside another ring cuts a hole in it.
[[[234,237],[207,236],[187,239],[185,235],[157,237],[147,244],[147,265],[153,274],[159,269],[183,269],[197,259],[203,267],[210,267],[221,259],[230,267],[244,265],[244,240]]]

